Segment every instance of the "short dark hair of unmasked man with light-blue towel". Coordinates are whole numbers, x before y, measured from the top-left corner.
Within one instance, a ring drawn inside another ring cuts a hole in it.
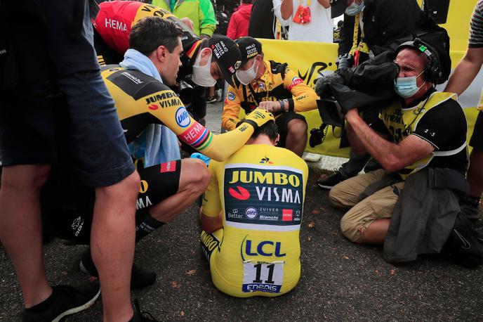
[[[146,17],[133,25],[129,34],[129,48],[149,56],[159,46],[165,46],[172,53],[182,36],[183,30],[176,22],[159,17]]]

